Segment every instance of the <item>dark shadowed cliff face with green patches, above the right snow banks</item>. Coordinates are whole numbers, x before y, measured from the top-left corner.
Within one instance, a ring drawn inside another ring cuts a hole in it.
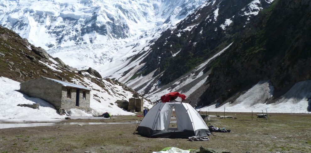
[[[270,80],[274,99],[311,79],[311,2],[276,0],[259,12],[216,61],[202,105],[223,103],[260,80]]]

